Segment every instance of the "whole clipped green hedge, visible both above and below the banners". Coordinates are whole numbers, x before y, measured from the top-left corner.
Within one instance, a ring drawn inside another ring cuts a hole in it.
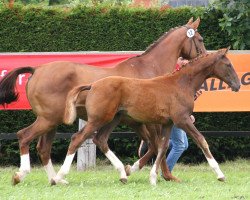
[[[145,50],[170,28],[184,25],[192,16],[201,17],[199,32],[207,49],[230,45],[230,37],[218,25],[221,11],[183,7],[142,9],[127,7],[0,7],[0,52],[137,51]],[[1,63],[0,63],[1,64]],[[196,113],[199,130],[250,130],[249,113]],[[0,111],[0,132],[12,133],[35,120],[31,111]],[[119,130],[127,130],[120,126]],[[75,132],[77,124],[60,126],[58,132]],[[117,129],[118,130],[118,129]],[[249,158],[249,137],[208,138],[212,152],[220,161]],[[57,140],[53,160],[62,161],[68,140]],[[113,138],[110,146],[123,157],[137,156],[139,139]],[[0,141],[0,164],[17,164],[17,141]],[[35,143],[31,157],[38,161]],[[98,151],[98,155],[101,155]],[[201,150],[190,142],[183,162],[200,162]]]

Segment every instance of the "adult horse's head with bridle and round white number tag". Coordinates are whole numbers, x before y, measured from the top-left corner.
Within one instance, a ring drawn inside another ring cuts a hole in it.
[[[200,24],[200,18],[193,22],[191,18],[184,27],[186,28],[186,39],[183,43],[181,56],[186,59],[192,59],[200,54],[206,53],[207,50],[203,43],[203,38],[197,31]]]

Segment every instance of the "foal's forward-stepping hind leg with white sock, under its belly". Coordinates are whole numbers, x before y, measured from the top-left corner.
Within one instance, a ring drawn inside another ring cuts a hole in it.
[[[93,142],[100,148],[105,156],[110,160],[112,165],[120,172],[120,181],[122,183],[127,182],[127,175],[123,163],[117,158],[117,156],[110,150],[108,146],[108,138],[114,127],[120,122],[119,114],[109,124],[103,126],[95,135]]]

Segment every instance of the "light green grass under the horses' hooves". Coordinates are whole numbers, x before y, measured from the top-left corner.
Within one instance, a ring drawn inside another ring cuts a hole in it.
[[[174,175],[181,183],[166,182],[160,176],[157,186],[149,183],[150,167],[132,174],[127,184],[119,181],[119,175],[110,165],[98,165],[85,172],[72,167],[67,180],[69,185],[48,184],[41,167],[35,167],[24,182],[12,186],[14,167],[0,168],[0,199],[250,199],[250,160],[237,160],[220,165],[226,175],[226,182],[216,180],[209,166],[177,165]],[[57,167],[58,169],[58,167]]]

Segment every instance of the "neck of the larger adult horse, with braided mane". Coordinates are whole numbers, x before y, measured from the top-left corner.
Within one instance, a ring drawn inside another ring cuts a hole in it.
[[[186,38],[185,34],[180,34],[183,35],[183,37],[178,37],[177,34],[178,32],[173,31],[148,52],[118,64],[117,68],[119,69],[129,65],[133,66],[134,70],[149,70],[152,74],[151,77],[174,71],[183,42]]]

